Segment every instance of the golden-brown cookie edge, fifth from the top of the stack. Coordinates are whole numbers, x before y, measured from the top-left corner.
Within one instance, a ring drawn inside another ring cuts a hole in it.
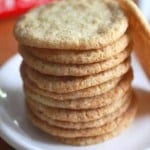
[[[59,101],[66,101],[66,100],[81,100],[85,101],[84,106],[80,104],[78,108],[86,108],[86,102],[91,101],[91,97],[93,101],[97,102],[99,97],[101,97],[101,102],[106,102],[106,99],[109,101],[109,96],[114,97],[114,94],[122,93],[124,94],[125,91],[129,88],[131,85],[131,81],[133,79],[133,74],[132,71],[130,70],[127,74],[120,78],[115,78],[112,79],[108,82],[105,82],[103,84],[93,86],[90,88],[86,88],[83,90],[75,91],[75,92],[70,92],[70,93],[64,93],[64,94],[58,94],[54,92],[49,92],[46,90],[42,90],[36,86],[31,80],[29,80],[27,77],[22,75],[23,80],[24,80],[24,87],[26,89],[29,89],[30,91],[34,91],[35,93],[39,93],[40,95],[43,95],[45,97],[54,99],[54,100],[59,100]],[[104,94],[104,95],[102,95]],[[109,95],[109,96],[107,96]],[[104,99],[104,100],[102,100]],[[113,99],[112,99],[113,100]],[[92,102],[93,102],[92,101]],[[73,101],[72,101],[73,102]],[[106,102],[107,103],[107,102]],[[90,103],[90,106],[92,106],[94,103]],[[95,104],[94,104],[95,105]]]

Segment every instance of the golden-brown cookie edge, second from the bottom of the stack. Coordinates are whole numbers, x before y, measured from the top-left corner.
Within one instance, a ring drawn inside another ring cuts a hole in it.
[[[47,121],[42,121],[40,118],[34,115],[33,112],[29,111],[29,117],[33,124],[36,126],[40,127],[41,129],[45,129],[45,127],[48,127],[48,133],[61,137],[61,138],[69,138],[69,139],[74,139],[74,138],[81,138],[81,137],[93,137],[93,136],[100,136],[109,132],[112,132],[114,130],[117,130],[117,127],[119,124],[122,122],[126,122],[127,120],[130,120],[130,115],[132,114],[131,112],[133,111],[131,108],[133,107],[133,103],[130,105],[129,109],[121,116],[118,116],[115,120],[108,122],[104,124],[103,126],[99,126],[96,128],[89,128],[89,129],[63,129],[55,126],[51,126],[47,123]],[[131,111],[132,110],[132,111]],[[132,116],[132,115],[131,115]]]

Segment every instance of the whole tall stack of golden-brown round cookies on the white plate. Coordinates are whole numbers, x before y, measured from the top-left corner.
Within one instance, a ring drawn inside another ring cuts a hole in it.
[[[60,141],[88,145],[133,120],[132,42],[112,0],[62,0],[19,19],[15,36],[31,122]]]

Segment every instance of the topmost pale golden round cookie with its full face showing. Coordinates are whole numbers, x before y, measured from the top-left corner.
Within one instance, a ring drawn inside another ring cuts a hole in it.
[[[121,37],[128,19],[112,0],[61,0],[33,9],[15,26],[24,45],[65,50],[91,50]]]

